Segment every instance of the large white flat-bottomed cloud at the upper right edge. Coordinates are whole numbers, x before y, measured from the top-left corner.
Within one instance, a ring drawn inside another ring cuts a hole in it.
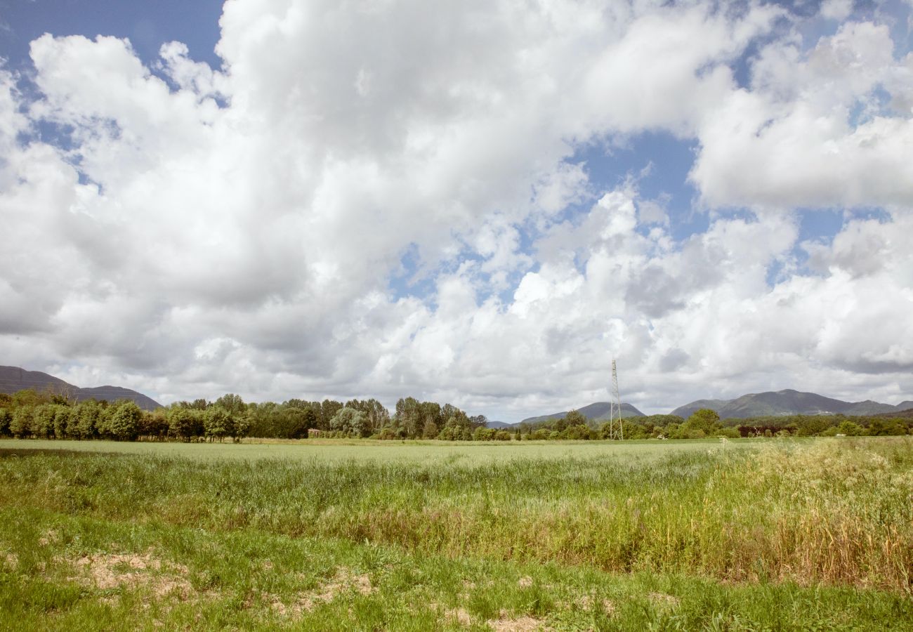
[[[887,26],[867,22],[846,23],[805,52],[779,41],[764,47],[751,89],[708,109],[698,132],[690,178],[705,202],[913,204],[909,86],[898,80],[909,76],[911,58],[893,50]]]

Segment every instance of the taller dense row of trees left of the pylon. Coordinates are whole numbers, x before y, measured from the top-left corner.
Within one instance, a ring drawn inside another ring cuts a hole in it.
[[[485,416],[468,416],[451,404],[401,398],[391,415],[376,399],[345,403],[289,399],[246,403],[240,395],[222,395],[214,402],[196,399],[154,411],[129,400],[75,402],[66,395],[33,389],[0,394],[0,436],[39,438],[104,438],[119,441],[225,441],[243,437],[362,437],[379,439],[477,438]]]

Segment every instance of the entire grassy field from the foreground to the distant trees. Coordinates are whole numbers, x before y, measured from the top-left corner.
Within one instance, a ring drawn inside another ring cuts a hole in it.
[[[910,437],[0,455],[5,629],[913,629]]]

